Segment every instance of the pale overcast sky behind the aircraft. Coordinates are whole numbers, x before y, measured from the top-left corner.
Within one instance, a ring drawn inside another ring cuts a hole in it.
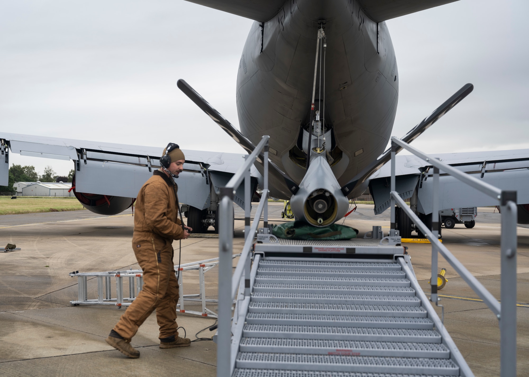
[[[387,21],[403,136],[463,84],[474,91],[414,145],[431,153],[529,148],[527,0],[461,0]],[[238,126],[236,74],[253,21],[183,0],[0,2],[0,129],[240,152],[176,86]],[[11,155],[11,164],[72,162]]]

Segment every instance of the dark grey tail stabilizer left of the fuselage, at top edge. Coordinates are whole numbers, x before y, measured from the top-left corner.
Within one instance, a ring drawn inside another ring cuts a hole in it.
[[[285,0],[186,0],[208,8],[236,14],[259,22],[270,20],[285,4]]]

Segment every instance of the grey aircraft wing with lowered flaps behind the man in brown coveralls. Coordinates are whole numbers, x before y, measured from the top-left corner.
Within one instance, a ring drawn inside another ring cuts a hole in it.
[[[8,184],[11,152],[23,156],[71,160],[72,168],[76,171],[78,192],[132,198],[138,195],[141,186],[149,179],[154,169],[160,167],[163,151],[163,147],[2,132],[0,139],[0,185]],[[215,180],[219,176],[230,176],[244,162],[243,154],[189,149],[183,149],[183,152],[186,163],[184,171],[176,181],[179,184],[178,197],[180,202],[200,209],[209,205],[210,177]],[[252,176],[260,177],[255,167],[252,167]]]

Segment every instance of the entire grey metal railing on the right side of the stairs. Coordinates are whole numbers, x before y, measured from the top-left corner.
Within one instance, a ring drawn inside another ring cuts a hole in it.
[[[424,159],[433,167],[432,182],[432,229],[418,218],[404,202],[404,200],[395,191],[395,155],[398,152],[397,146],[407,149],[414,155]],[[468,184],[474,189],[485,193],[500,204],[501,213],[501,303],[490,294],[490,292],[455,258],[446,247],[439,242],[439,171],[452,175],[459,181]],[[402,208],[406,214],[413,220],[415,225],[428,237],[432,243],[432,275],[430,279],[431,296],[430,300],[438,305],[439,296],[437,295],[437,252],[450,263],[458,272],[464,281],[478,294],[481,299],[488,305],[499,321],[500,328],[500,373],[501,377],[516,376],[516,222],[517,222],[517,205],[516,191],[500,190],[486,182],[459,171],[458,169],[442,163],[436,158],[428,156],[420,150],[403,142],[396,137],[391,137],[391,188],[390,188],[390,207],[391,223],[390,235],[396,235],[395,226],[395,204]],[[435,232],[435,233],[434,233]]]

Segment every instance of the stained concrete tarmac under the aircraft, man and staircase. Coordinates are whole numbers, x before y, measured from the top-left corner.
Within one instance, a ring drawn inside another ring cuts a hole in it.
[[[280,217],[282,203],[269,203],[269,219]],[[469,271],[500,298],[500,215],[494,208],[478,208],[476,227],[463,224],[442,229],[443,243]],[[243,211],[236,208],[234,253],[243,244]],[[343,221],[359,229],[360,237],[381,225],[389,231],[389,211],[375,216],[372,205],[359,204]],[[517,229],[517,370],[529,370],[529,229]],[[214,376],[216,345],[193,342],[190,347],[162,350],[158,325],[151,315],[132,344],[140,359],[127,359],[105,343],[124,309],[115,306],[71,306],[77,298],[78,270],[113,271],[138,268],[131,250],[133,217],[130,211],[115,216],[71,211],[0,216],[0,244],[15,243],[22,250],[0,253],[0,375],[85,376],[99,374]],[[178,241],[175,263],[178,263]],[[409,243],[415,274],[426,294],[430,291],[431,245]],[[218,239],[189,238],[181,242],[181,263],[215,258]],[[237,258],[234,259],[234,266]],[[49,267],[47,267],[49,266]],[[440,291],[444,325],[476,376],[499,375],[499,327],[494,314],[482,303],[451,266],[440,257],[448,283]],[[96,280],[88,281],[95,297]],[[216,298],[216,268],[206,272],[206,295]],[[198,292],[198,274],[185,272],[185,294]],[[115,296],[114,296],[115,297]],[[186,301],[186,309],[200,310]],[[214,304],[208,307],[216,311]],[[439,308],[437,311],[440,313]],[[179,314],[178,324],[187,337],[215,323],[215,319]],[[182,330],[180,330],[182,332]],[[180,335],[183,335],[180,333]],[[208,329],[198,337],[211,338]]]

